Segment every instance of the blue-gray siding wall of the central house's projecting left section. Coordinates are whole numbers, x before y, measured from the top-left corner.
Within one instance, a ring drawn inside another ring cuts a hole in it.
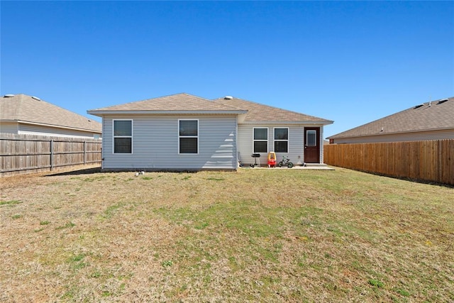
[[[133,120],[133,153],[114,154],[112,121]],[[179,154],[179,119],[199,120],[199,153]],[[105,170],[235,170],[236,116],[104,116]]]

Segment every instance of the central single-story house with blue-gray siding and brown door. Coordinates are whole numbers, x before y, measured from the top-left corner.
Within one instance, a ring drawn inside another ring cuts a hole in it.
[[[102,117],[104,170],[236,170],[267,153],[323,163],[326,119],[243,99],[191,94],[87,111]]]

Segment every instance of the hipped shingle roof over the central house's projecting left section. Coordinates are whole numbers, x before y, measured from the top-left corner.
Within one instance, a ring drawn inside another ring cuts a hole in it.
[[[92,109],[89,114],[102,116],[103,114],[245,114],[242,109],[219,104],[208,99],[191,94],[172,94],[170,96],[135,101],[126,104]]]

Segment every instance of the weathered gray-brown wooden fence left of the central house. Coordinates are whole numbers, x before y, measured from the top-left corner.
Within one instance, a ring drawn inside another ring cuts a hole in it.
[[[0,135],[0,176],[101,164],[101,140]]]

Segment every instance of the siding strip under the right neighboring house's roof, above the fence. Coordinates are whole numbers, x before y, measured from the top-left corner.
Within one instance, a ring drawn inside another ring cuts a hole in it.
[[[380,143],[380,142],[401,142],[401,141],[425,141],[454,139],[454,129],[441,131],[421,131],[409,133],[383,134],[380,136],[362,136],[355,138],[336,138],[333,143]]]

